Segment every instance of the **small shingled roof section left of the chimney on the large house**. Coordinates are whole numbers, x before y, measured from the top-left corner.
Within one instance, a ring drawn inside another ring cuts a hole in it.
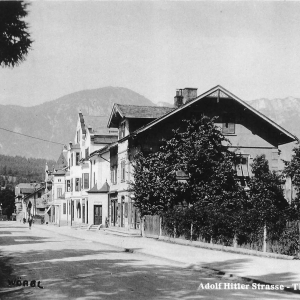
[[[112,124],[115,124],[116,120],[119,118],[157,119],[174,109],[174,107],[123,105],[115,103],[112,108],[107,127],[111,127]]]

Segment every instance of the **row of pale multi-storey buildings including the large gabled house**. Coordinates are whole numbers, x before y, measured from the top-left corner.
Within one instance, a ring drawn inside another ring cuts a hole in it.
[[[241,182],[251,176],[251,162],[260,154],[265,154],[272,170],[280,170],[281,146],[297,141],[221,86],[201,95],[195,88],[179,89],[174,107],[114,104],[107,128],[99,128],[99,117],[80,112],[74,141],[64,147],[54,169],[47,171],[51,196],[43,214],[60,226],[140,230],[135,196],[129,189],[135,153],[157,151],[181,120],[203,114],[217,118],[215,122],[230,140],[231,150],[242,156],[237,167]],[[291,193],[287,185],[287,200]]]

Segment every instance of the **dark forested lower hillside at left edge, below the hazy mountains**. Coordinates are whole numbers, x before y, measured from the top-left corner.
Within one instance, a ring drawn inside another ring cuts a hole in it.
[[[19,182],[44,181],[46,162],[52,169],[54,160],[0,154],[1,187],[13,187]]]

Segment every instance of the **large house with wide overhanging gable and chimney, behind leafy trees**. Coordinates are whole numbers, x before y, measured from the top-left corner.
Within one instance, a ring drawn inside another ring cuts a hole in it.
[[[164,139],[172,135],[181,120],[215,117],[215,124],[231,142],[230,149],[242,157],[237,173],[241,181],[251,176],[251,162],[264,154],[272,170],[281,168],[280,146],[297,141],[297,137],[218,85],[197,95],[196,88],[176,91],[174,107],[140,107],[114,104],[108,128],[119,131],[117,142],[109,146],[111,226],[138,229],[139,216],[129,182],[133,180],[132,159],[136,151],[155,152]]]

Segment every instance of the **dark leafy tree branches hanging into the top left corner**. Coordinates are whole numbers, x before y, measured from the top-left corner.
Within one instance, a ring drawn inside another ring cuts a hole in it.
[[[15,67],[25,60],[32,40],[23,1],[0,1],[0,65]]]

